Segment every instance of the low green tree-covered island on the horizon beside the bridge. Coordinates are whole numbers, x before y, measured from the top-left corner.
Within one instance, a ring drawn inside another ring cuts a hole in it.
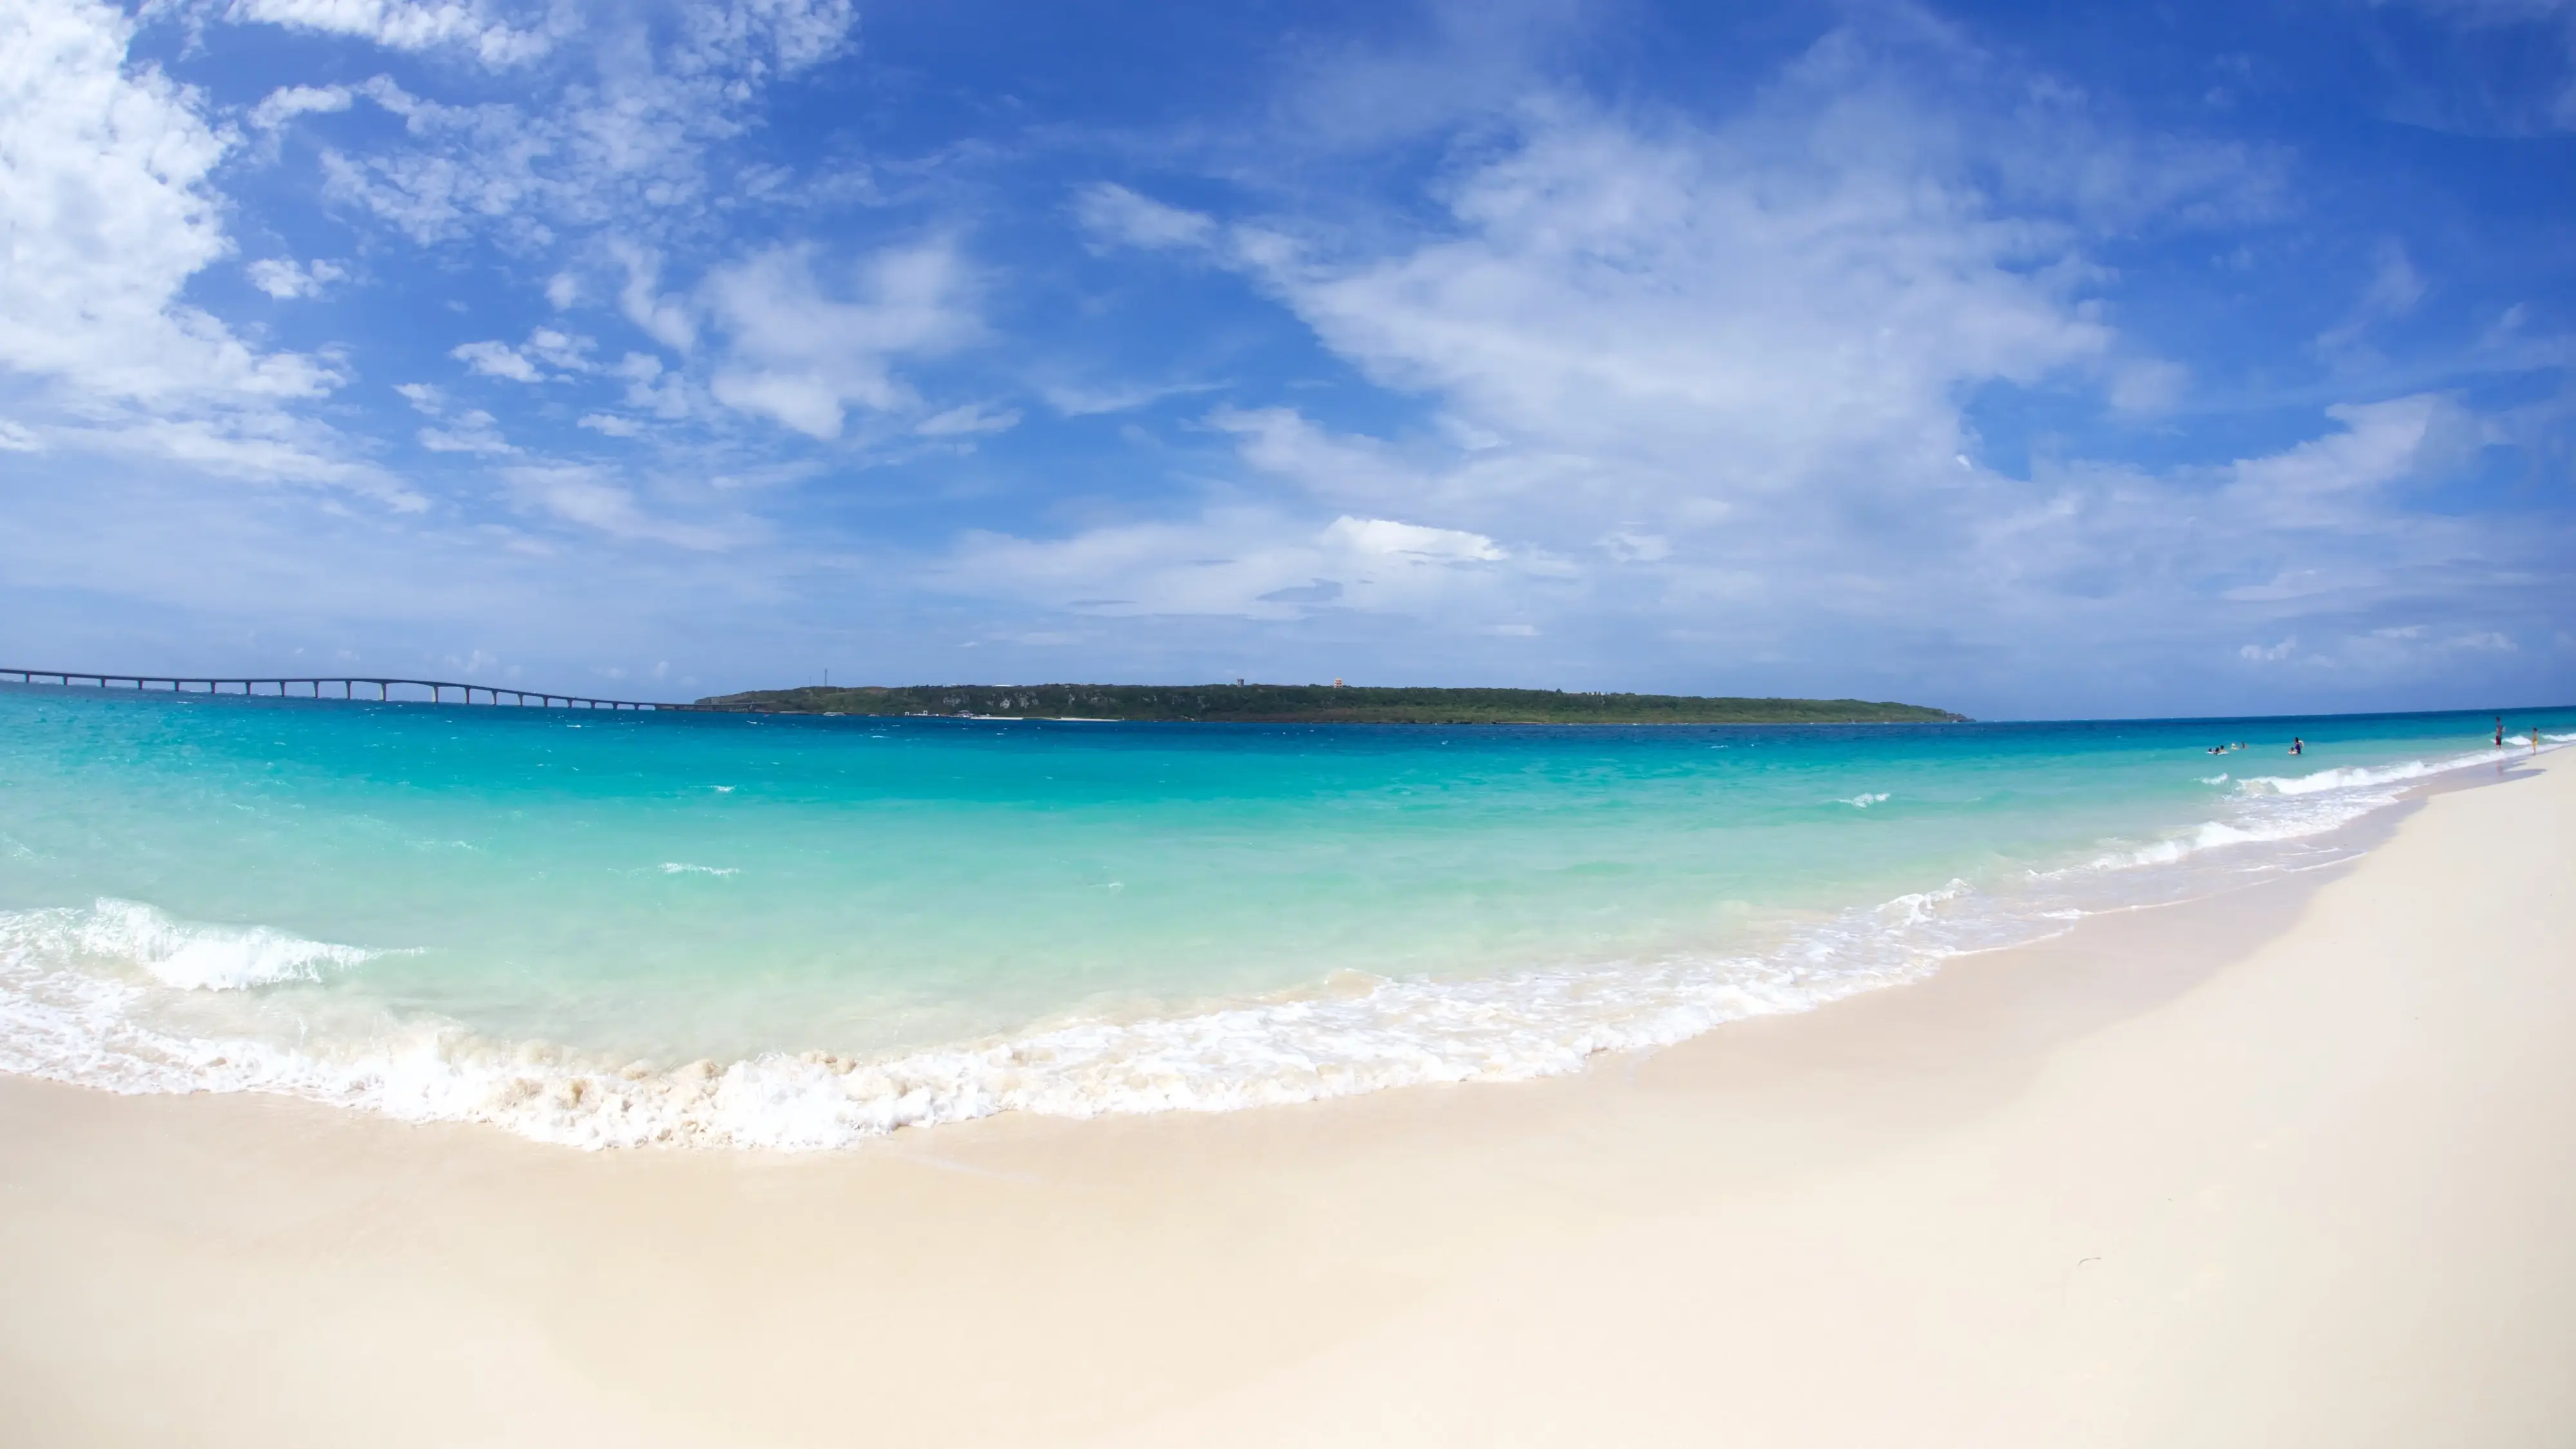
[[[1198,724],[1958,724],[1965,714],[1868,699],[1703,699],[1561,688],[1368,688],[1340,683],[917,683],[719,694],[701,709],[760,714],[974,714]]]

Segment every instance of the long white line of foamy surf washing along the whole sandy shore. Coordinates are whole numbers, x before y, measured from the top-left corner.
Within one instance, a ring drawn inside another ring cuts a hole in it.
[[[2336,838],[2352,828],[2352,810],[2362,810],[2362,820],[2385,815],[2409,789],[2496,763],[2494,753],[2473,750],[2298,779],[2246,779],[2236,797],[2264,786],[2254,794],[2295,804],[2334,792],[2324,797],[2329,812],[2318,817],[2313,807],[2300,807],[2311,815],[2287,822],[2202,820],[2184,833],[2164,830],[2136,851],[2128,848],[2133,841],[2105,838],[2102,846],[2117,846],[2107,856],[2084,861],[2079,853],[2063,869],[2022,871],[2043,895],[2017,892],[2012,882],[1922,884],[1937,874],[1917,877],[1914,890],[1888,882],[1899,895],[1868,905],[1783,910],[1770,936],[1749,938],[1736,951],[1494,977],[1370,977],[1368,990],[1291,987],[1133,1016],[1077,1013],[1023,1031],[876,1055],[788,1047],[708,1060],[688,1060],[685,1052],[641,1060],[544,1036],[471,1031],[422,1042],[394,1031],[399,1021],[376,1039],[309,1052],[301,1036],[286,1044],[222,1034],[160,1039],[149,1024],[134,1049],[98,1039],[80,1052],[82,1034],[95,1034],[80,1016],[80,1008],[95,1006],[77,995],[90,990],[88,982],[75,977],[62,987],[39,977],[28,987],[36,1042],[52,1034],[62,1044],[10,1055],[5,1065],[108,1091],[268,1091],[402,1122],[487,1122],[551,1145],[680,1150],[848,1150],[904,1127],[953,1127],[1010,1111],[1056,1119],[1247,1111],[1430,1083],[1553,1078],[1584,1073],[1605,1055],[1672,1047],[1728,1021],[1816,1011],[1919,982],[1937,975],[1945,959],[1991,954],[2002,941],[2048,938],[2066,920],[2125,910],[2123,900],[2177,900],[2174,892],[2190,900],[2221,882],[2303,869],[2287,856],[2349,848]],[[1883,797],[1837,804],[1875,799]],[[2221,848],[2262,848],[2272,851],[2272,861],[2226,864],[2210,856]],[[662,866],[665,874],[675,869],[703,866]],[[2177,869],[2208,874],[2195,882],[2172,874]],[[224,944],[227,933],[245,931],[173,926],[149,905],[111,900],[100,900],[95,913],[111,905],[142,918],[137,928],[147,933],[191,931]],[[28,918],[39,931],[90,931],[88,915],[67,910]],[[322,957],[358,951],[304,938],[286,944]],[[1262,1049],[1244,1052],[1239,1042]]]

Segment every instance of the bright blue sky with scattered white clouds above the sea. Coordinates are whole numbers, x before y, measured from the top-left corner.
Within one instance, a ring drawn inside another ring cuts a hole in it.
[[[0,663],[2576,699],[2576,3],[0,13]]]

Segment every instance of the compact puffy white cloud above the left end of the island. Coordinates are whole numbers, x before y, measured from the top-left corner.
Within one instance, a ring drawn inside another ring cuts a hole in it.
[[[716,402],[837,438],[850,407],[912,407],[896,358],[945,353],[981,330],[966,263],[945,240],[881,250],[848,278],[848,299],[835,297],[817,278],[814,248],[770,248],[711,271],[701,294],[726,333]]]

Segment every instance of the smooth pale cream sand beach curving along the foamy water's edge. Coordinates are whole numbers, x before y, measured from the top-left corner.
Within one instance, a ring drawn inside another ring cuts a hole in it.
[[[2367,830],[1231,1116],[580,1155],[0,1078],[0,1444],[2571,1444],[2576,768]]]

